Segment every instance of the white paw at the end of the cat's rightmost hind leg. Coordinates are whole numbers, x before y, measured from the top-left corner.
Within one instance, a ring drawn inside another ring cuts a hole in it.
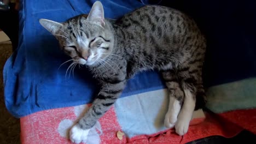
[[[188,132],[189,128],[189,121],[186,119],[178,119],[178,121],[175,124],[175,131],[178,135],[184,135]]]

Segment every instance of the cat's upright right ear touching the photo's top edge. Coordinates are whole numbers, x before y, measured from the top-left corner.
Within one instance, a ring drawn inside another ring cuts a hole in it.
[[[89,21],[95,22],[102,27],[105,26],[104,21],[104,10],[100,1],[96,1],[94,5],[92,5],[91,11],[87,17]]]

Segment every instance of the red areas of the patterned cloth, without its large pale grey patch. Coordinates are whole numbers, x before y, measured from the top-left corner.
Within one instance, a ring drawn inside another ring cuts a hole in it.
[[[82,107],[81,107],[82,109]],[[22,143],[71,143],[67,139],[67,131],[77,119],[75,107],[46,110],[21,118]],[[243,129],[256,134],[256,109],[236,110],[221,114],[206,113],[206,118],[194,118],[189,131],[179,136],[173,129],[161,131],[153,135],[137,135],[133,137],[117,137],[122,131],[117,121],[114,107],[99,120],[101,130],[96,130],[100,143],[187,143],[203,137],[220,135],[233,137]],[[61,124],[62,123],[62,124]],[[70,124],[70,125],[68,125]]]

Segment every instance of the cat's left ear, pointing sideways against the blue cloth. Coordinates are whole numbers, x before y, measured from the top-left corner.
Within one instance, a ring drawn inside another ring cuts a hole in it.
[[[47,29],[51,34],[55,35],[57,31],[63,26],[59,22],[51,21],[51,20],[46,20],[46,19],[40,19],[39,23]]]

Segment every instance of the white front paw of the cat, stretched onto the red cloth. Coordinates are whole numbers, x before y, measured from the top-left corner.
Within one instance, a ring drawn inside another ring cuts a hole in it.
[[[73,143],[85,142],[87,140],[90,129],[82,129],[78,124],[75,124],[69,131],[69,139]]]

